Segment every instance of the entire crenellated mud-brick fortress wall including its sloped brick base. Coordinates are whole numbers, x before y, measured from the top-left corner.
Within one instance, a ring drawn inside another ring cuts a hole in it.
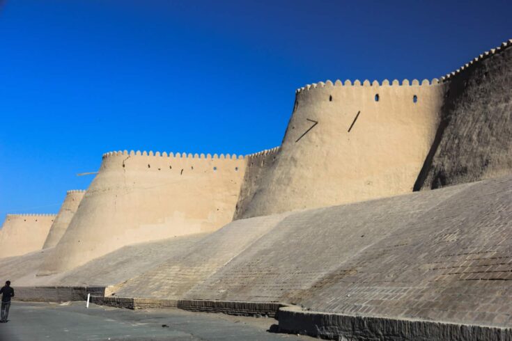
[[[130,308],[292,304],[285,330],[327,338],[510,340],[511,46],[439,81],[300,88],[247,157],[107,153],[60,240],[49,222],[0,272]],[[16,219],[0,246],[33,230]]]

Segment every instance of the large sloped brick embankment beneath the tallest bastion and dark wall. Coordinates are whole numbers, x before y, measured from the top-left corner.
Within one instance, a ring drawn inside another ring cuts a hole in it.
[[[235,250],[217,269],[209,268],[207,260],[222,249],[198,248],[198,262],[202,260],[208,271],[194,269],[187,263],[189,255],[183,255],[182,263],[173,260],[143,273],[117,294],[221,305],[296,304],[334,316],[308,315],[316,321],[354,325],[329,329],[340,337],[348,337],[349,329],[350,337],[369,337],[391,333],[379,329],[391,328],[395,337],[405,333],[427,340],[431,328],[442,335],[456,328],[452,324],[473,330],[468,337],[473,340],[492,331],[504,335],[502,328],[512,323],[512,299],[504,294],[511,290],[512,254],[509,239],[503,238],[512,227],[511,198],[512,178],[504,177],[296,212],[276,221],[246,248]],[[257,219],[261,218],[232,224]],[[219,241],[224,240],[234,231],[222,229],[201,242],[208,244],[220,233],[226,235]],[[182,303],[182,308],[187,308],[184,304],[190,303]],[[421,323],[411,325],[407,320]],[[293,321],[286,321],[286,330],[329,337],[327,326],[308,331],[293,329]]]

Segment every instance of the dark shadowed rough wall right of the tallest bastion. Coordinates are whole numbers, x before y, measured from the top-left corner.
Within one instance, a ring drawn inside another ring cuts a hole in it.
[[[415,189],[512,173],[512,40],[449,74],[442,122]]]

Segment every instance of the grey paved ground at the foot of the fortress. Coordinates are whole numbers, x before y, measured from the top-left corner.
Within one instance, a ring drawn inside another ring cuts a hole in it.
[[[1,341],[38,340],[313,340],[268,332],[275,319],[178,309],[127,310],[84,302],[68,306],[13,302]],[[162,325],[166,325],[162,327]]]

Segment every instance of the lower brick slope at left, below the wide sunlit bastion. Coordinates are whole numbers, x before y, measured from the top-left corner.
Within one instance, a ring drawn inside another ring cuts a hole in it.
[[[16,299],[25,301],[73,301],[83,299],[88,288],[103,295],[157,266],[169,258],[183,254],[208,234],[173,237],[159,241],[124,246],[75,269],[50,276],[36,276],[42,260],[51,249],[43,249],[19,257],[6,258],[0,264],[17,288]],[[102,292],[98,292],[102,290]]]

